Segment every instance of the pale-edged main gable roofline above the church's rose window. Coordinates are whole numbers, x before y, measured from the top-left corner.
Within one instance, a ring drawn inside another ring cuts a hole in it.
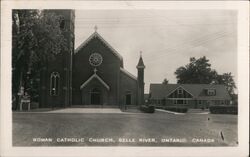
[[[77,53],[80,49],[82,49],[85,45],[87,45],[91,40],[98,38],[100,41],[102,41],[110,50],[111,52],[118,57],[121,61],[123,60],[122,56],[107,42],[105,41],[97,31],[95,31],[92,35],[88,37],[87,40],[85,40],[78,48],[75,50],[75,53]]]

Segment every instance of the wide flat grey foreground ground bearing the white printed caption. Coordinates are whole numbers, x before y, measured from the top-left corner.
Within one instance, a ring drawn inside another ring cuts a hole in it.
[[[237,115],[13,112],[13,146],[237,146]]]

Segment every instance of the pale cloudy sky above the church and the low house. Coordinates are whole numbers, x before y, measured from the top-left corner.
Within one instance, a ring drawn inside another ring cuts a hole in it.
[[[176,83],[175,70],[190,57],[206,56],[219,74],[237,84],[237,12],[233,10],[76,10],[75,48],[97,32],[137,76],[140,51],[145,92],[150,83]]]

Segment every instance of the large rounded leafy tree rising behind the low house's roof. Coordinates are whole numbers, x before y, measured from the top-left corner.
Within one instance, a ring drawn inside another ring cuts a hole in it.
[[[216,79],[217,72],[211,69],[209,60],[203,56],[199,59],[190,58],[190,63],[175,71],[177,83],[209,84]]]

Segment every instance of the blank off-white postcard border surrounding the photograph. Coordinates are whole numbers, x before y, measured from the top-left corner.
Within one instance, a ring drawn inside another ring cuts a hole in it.
[[[1,156],[247,156],[249,146],[248,1],[2,1]],[[225,9],[238,10],[238,147],[12,147],[12,9]]]

